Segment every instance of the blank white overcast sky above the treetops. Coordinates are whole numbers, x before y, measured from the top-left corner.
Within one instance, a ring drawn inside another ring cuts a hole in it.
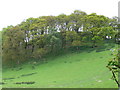
[[[27,18],[59,14],[74,10],[97,13],[112,18],[118,16],[120,0],[0,0],[0,30],[20,24]]]

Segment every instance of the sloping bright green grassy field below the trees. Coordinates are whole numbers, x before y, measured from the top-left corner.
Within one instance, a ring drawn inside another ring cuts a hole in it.
[[[31,64],[34,62],[29,62],[21,66],[21,70],[3,70],[3,87],[117,88],[111,79],[111,72],[106,68],[111,58],[110,50],[86,50],[49,57],[47,62],[35,67]]]

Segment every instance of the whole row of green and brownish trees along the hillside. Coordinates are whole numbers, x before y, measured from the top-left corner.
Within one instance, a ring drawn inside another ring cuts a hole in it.
[[[69,47],[100,47],[105,40],[118,42],[117,17],[75,10],[70,15],[28,18],[2,30],[3,65],[41,59]]]

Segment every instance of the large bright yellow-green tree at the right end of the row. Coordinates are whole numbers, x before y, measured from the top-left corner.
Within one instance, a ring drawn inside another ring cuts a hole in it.
[[[92,47],[97,47],[107,36],[111,37],[111,39],[114,38],[116,31],[114,27],[109,25],[110,23],[109,18],[103,15],[96,15],[96,13],[85,16],[83,20],[83,33],[90,35],[89,41],[93,43]],[[88,36],[83,38],[88,40]]]

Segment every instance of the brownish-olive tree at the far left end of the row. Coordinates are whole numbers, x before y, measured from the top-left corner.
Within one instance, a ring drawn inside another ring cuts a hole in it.
[[[9,65],[20,64],[24,57],[24,33],[19,26],[7,28],[3,32],[3,63]]]

